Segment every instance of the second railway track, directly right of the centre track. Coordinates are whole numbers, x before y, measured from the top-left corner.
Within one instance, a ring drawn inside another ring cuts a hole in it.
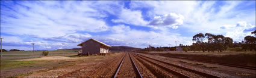
[[[192,70],[189,68],[181,67],[179,65],[166,63],[164,61],[155,60],[153,58],[145,57],[143,55],[134,54],[137,57],[137,60],[140,62],[148,62],[151,64],[156,65],[157,67],[161,68],[162,70],[168,71],[169,73],[173,74],[172,77],[217,77],[211,74],[203,73],[201,71]],[[154,71],[154,70],[152,70]],[[153,72],[154,73],[154,72]],[[155,74],[158,75],[158,74]],[[165,76],[164,76],[165,77]]]

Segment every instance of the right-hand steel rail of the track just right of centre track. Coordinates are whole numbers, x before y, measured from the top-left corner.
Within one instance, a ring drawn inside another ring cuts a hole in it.
[[[141,56],[141,57],[145,57],[145,56],[139,55],[139,54],[135,54],[135,55],[137,55],[138,57],[140,57],[140,56]],[[145,58],[149,58],[149,57],[145,57]],[[149,58],[149,59],[155,60],[154,58]],[[211,75],[211,74],[203,73],[203,72],[201,72],[201,71],[192,70],[192,69],[186,68],[186,67],[181,67],[181,66],[179,66],[179,65],[166,63],[166,62],[160,61],[160,60],[155,60],[155,61],[158,61],[158,62],[160,62],[160,63],[167,64],[167,65],[172,65],[173,67],[181,68],[181,69],[183,69],[183,70],[188,70],[188,71],[191,71],[191,72],[193,72],[193,73],[199,74],[199,75],[201,75],[201,76],[216,77],[216,78],[218,78],[217,76],[213,76],[213,75]]]

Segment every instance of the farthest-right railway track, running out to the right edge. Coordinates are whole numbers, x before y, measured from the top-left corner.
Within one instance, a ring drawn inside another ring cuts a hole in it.
[[[149,55],[153,55],[153,54],[149,54]],[[256,67],[246,66],[246,65],[219,63],[219,62],[213,62],[213,61],[202,61],[202,60],[195,60],[195,59],[190,59],[190,58],[172,57],[172,56],[164,56],[164,55],[160,55],[160,56],[170,57],[170,58],[179,58],[179,59],[182,59],[182,60],[197,61],[197,62],[201,62],[201,63],[219,64],[219,65],[225,65],[225,66],[229,66],[229,67],[237,67],[237,68],[245,68],[245,69],[249,69],[249,70],[256,70]]]

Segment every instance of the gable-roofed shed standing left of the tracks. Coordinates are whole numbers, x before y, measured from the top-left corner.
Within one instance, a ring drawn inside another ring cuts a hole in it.
[[[83,55],[86,54],[105,54],[105,53],[109,53],[110,51],[108,51],[109,48],[111,48],[110,45],[107,45],[103,42],[100,42],[98,40],[95,39],[89,39],[86,40],[82,43],[79,43],[77,46],[81,46],[81,53]]]

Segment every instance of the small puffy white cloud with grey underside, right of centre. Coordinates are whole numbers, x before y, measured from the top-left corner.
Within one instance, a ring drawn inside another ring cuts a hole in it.
[[[152,26],[169,26],[173,29],[177,29],[177,25],[183,24],[184,17],[180,14],[170,13],[163,16],[155,16],[149,25]]]

